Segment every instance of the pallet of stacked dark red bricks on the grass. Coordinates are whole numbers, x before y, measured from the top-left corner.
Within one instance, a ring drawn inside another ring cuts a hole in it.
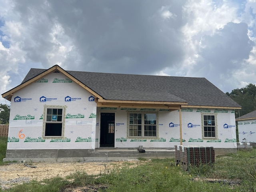
[[[189,166],[199,166],[200,164],[212,164],[215,161],[213,147],[204,146],[175,146],[176,165],[181,165],[184,170]]]

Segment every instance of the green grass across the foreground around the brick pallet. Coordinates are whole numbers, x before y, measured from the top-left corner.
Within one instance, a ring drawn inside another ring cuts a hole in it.
[[[5,157],[6,143],[6,138],[0,138],[0,160]],[[31,181],[4,192],[63,192],[66,188],[77,186],[87,186],[85,191],[88,192],[94,189],[99,192],[256,191],[256,149],[218,156],[213,166],[190,167],[189,171],[175,166],[174,159],[140,159],[142,161],[142,164],[132,168],[130,162],[122,168],[116,166],[107,170],[106,167],[106,173],[100,175],[88,175],[77,170],[66,178]]]

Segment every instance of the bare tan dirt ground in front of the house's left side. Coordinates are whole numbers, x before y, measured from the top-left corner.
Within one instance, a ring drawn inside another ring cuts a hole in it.
[[[65,178],[77,171],[86,172],[89,175],[99,175],[110,172],[114,167],[122,167],[129,162],[131,166],[141,164],[140,161],[118,162],[64,162],[64,163],[10,163],[0,166],[0,188],[10,188],[16,184],[22,184],[31,180],[42,181],[53,177]],[[84,188],[67,190],[67,192],[83,192]],[[92,190],[94,191],[94,190]]]

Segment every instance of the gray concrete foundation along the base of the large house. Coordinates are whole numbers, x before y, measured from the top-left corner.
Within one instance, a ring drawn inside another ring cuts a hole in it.
[[[26,162],[85,162],[85,161],[122,161],[138,158],[175,158],[174,148],[144,148],[145,153],[128,148],[98,149],[41,149],[41,150],[7,150],[3,161],[26,160]],[[236,148],[214,148],[215,156],[236,153]]]

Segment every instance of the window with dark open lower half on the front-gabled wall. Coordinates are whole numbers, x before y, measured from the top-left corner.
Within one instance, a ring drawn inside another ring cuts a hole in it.
[[[62,137],[64,122],[64,107],[45,106],[44,137]]]

